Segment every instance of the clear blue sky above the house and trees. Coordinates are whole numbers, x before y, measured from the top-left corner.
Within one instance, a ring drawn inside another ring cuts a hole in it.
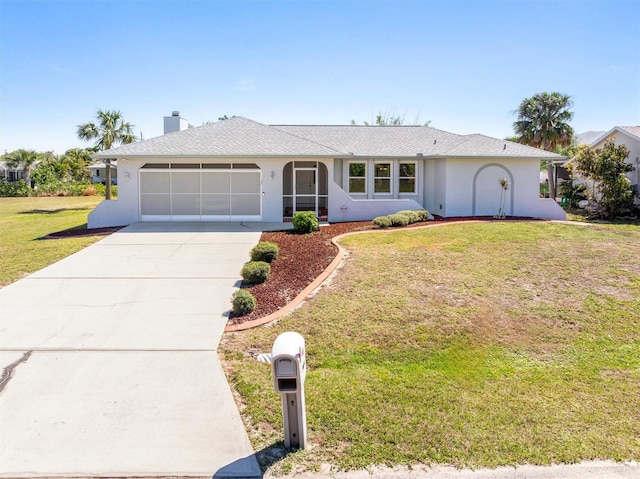
[[[577,132],[640,124],[640,0],[0,0],[0,153],[89,146],[99,108],[502,138],[542,91]]]

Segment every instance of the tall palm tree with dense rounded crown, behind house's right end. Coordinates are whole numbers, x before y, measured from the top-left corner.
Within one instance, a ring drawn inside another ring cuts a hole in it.
[[[558,92],[543,92],[525,98],[518,110],[518,119],[513,122],[513,131],[519,143],[554,152],[558,146],[566,147],[573,140],[573,101],[569,95]],[[547,161],[549,196],[556,197],[553,163]]]

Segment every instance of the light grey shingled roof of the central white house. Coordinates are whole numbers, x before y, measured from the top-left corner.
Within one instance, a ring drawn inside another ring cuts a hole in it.
[[[234,117],[123,145],[95,158],[175,157],[508,157],[559,155],[484,135],[421,126],[264,125]]]

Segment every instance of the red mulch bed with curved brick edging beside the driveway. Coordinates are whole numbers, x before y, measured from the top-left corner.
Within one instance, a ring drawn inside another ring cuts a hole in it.
[[[438,222],[492,220],[493,218],[460,217],[440,218]],[[507,217],[506,220],[525,218]],[[526,218],[531,220],[531,218]],[[505,220],[500,220],[505,221]],[[431,222],[414,223],[410,227],[424,226]],[[274,313],[295,298],[304,288],[329,266],[336,257],[338,248],[331,243],[331,238],[352,231],[363,231],[376,228],[371,221],[352,223],[332,223],[322,226],[319,231],[309,235],[296,235],[291,231],[262,233],[261,241],[276,243],[280,249],[278,258],[271,264],[269,279],[262,284],[243,285],[256,298],[256,309],[250,314],[233,317],[229,324],[241,324],[246,321],[262,318]]]

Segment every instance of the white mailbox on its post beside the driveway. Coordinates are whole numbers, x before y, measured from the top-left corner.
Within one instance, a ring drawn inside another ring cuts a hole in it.
[[[273,386],[282,396],[284,445],[304,449],[307,442],[307,414],[304,379],[307,359],[304,338],[294,332],[280,334],[271,349]]]

